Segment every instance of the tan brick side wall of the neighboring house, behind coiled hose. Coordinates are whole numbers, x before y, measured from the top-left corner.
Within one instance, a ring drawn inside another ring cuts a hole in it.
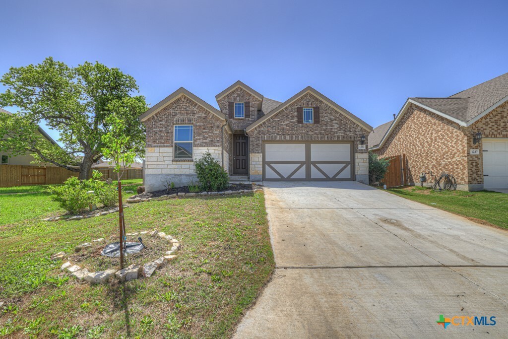
[[[432,171],[455,176],[458,184],[468,183],[465,132],[456,122],[411,104],[383,148],[374,152],[382,157],[405,155],[408,180],[419,184],[420,174]],[[434,178],[427,175],[427,183]]]

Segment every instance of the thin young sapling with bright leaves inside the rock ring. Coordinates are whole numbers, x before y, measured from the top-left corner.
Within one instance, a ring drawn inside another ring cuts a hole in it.
[[[114,164],[114,171],[117,173],[118,184],[118,224],[120,231],[120,268],[123,268],[123,247],[125,235],[125,219],[122,205],[122,185],[121,176],[126,168],[129,168],[136,158],[136,147],[133,143],[136,138],[129,134],[129,122],[125,116],[130,116],[129,112],[137,112],[140,103],[133,98],[124,98],[115,100],[108,105],[112,112],[106,122],[110,126],[109,131],[101,137],[104,147],[101,149],[105,158],[110,159]]]

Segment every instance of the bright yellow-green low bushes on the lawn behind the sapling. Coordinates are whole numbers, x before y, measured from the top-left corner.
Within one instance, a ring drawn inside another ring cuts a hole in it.
[[[98,171],[93,171],[92,178],[88,180],[70,177],[61,186],[49,189],[53,194],[51,200],[72,213],[87,210],[93,204],[114,206],[118,202],[118,193],[113,185],[100,180],[101,178],[102,174]],[[89,191],[93,193],[87,193]]]

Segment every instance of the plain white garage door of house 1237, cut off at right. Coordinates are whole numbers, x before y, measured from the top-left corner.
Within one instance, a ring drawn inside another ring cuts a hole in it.
[[[508,189],[508,139],[483,139],[483,187]]]

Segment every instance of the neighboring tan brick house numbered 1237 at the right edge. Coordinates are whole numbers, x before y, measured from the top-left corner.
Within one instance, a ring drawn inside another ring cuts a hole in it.
[[[369,149],[405,155],[408,184],[432,171],[453,175],[459,190],[508,189],[507,101],[508,73],[448,98],[409,98],[388,129],[369,135]]]

